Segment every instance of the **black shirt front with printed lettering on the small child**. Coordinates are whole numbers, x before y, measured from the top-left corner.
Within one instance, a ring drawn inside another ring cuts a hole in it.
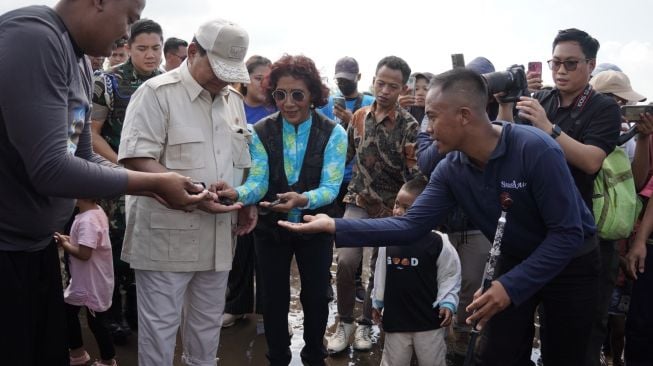
[[[442,238],[430,232],[415,244],[386,248],[383,329],[423,332],[440,328],[437,261]]]

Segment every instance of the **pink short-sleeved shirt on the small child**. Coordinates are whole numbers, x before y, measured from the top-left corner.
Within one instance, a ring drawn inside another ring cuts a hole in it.
[[[69,256],[71,279],[64,291],[64,300],[70,305],[106,311],[113,295],[113,257],[109,220],[100,207],[75,216],[70,242],[92,248],[93,254],[87,261]]]

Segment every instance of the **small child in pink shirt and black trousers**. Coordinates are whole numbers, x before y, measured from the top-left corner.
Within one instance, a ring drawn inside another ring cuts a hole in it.
[[[113,294],[113,258],[109,240],[109,220],[91,199],[78,199],[70,236],[55,233],[54,238],[69,254],[70,284],[64,290],[70,364],[86,365],[90,356],[84,349],[79,310],[86,307],[86,318],[100,349],[101,360],[94,365],[117,365],[106,311]]]

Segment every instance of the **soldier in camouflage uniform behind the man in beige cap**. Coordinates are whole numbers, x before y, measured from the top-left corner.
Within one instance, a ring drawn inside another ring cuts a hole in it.
[[[139,20],[131,27],[127,42],[130,57],[123,64],[95,77],[93,91],[93,149],[107,160],[117,162],[120,134],[131,95],[146,80],[161,74],[161,26],[152,20]],[[113,249],[115,286],[110,314],[114,320],[110,329],[120,343],[131,333],[137,322],[134,271],[120,260],[125,235],[125,199],[105,200],[102,206],[109,217],[109,236]],[[121,287],[126,292],[123,318]],[[125,320],[127,322],[125,322]],[[129,324],[129,325],[128,325]]]

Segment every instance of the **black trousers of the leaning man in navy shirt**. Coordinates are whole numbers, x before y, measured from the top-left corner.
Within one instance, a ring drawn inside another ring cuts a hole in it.
[[[534,296],[510,305],[486,324],[479,345],[480,365],[530,366],[535,326],[533,317],[540,306],[542,360],[549,366],[578,366],[585,360],[588,333],[598,298],[599,249],[579,256]],[[501,273],[519,264],[502,254]]]

